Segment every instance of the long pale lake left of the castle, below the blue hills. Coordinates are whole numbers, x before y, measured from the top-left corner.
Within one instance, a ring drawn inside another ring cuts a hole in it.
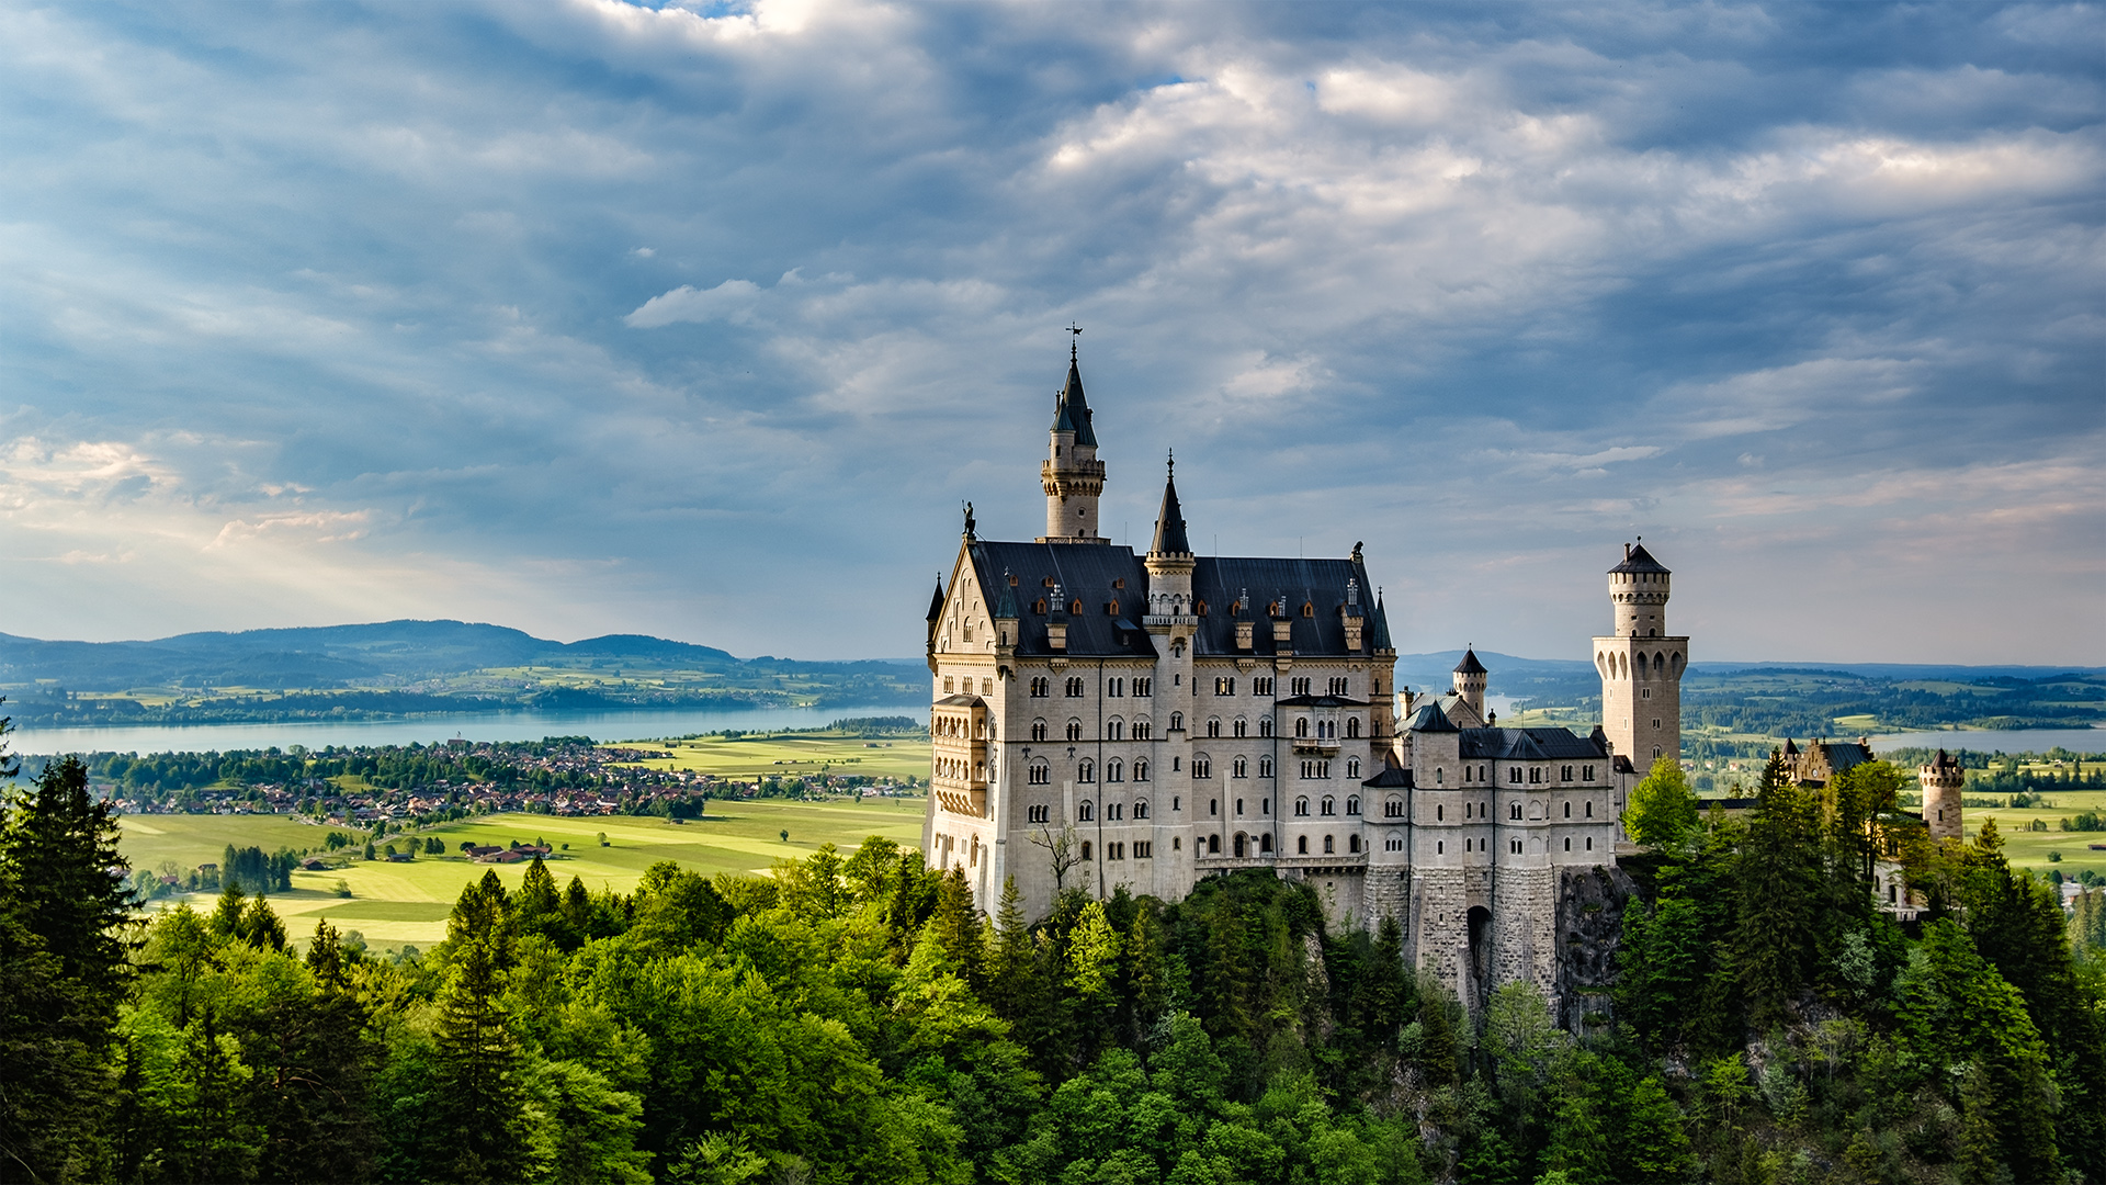
[[[409,721],[286,721],[139,727],[23,727],[6,734],[11,753],[227,753],[232,749],[326,749],[331,744],[434,744],[468,740],[657,740],[722,727],[826,727],[842,717],[929,719],[929,704],[863,704],[849,708],[741,708],[670,713],[461,713]]]

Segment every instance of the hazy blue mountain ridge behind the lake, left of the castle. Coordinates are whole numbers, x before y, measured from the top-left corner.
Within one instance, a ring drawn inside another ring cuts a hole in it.
[[[718,675],[891,673],[889,662],[737,658],[712,645],[602,635],[548,641],[510,626],[396,620],[240,633],[187,633],[152,641],[44,641],[0,635],[0,685],[55,681],[74,692],[133,687],[385,687],[503,666],[617,660]]]

